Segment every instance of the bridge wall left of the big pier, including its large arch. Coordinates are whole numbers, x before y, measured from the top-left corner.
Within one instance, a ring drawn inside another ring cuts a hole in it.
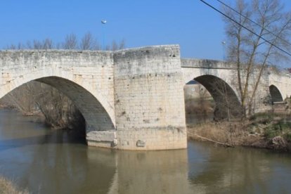
[[[115,129],[111,52],[0,51],[0,70],[0,98],[37,79],[56,87],[77,105],[88,133]]]

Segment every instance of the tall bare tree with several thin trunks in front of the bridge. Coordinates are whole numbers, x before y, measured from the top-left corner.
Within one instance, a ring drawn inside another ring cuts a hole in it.
[[[252,114],[264,70],[289,49],[291,14],[279,0],[237,0],[235,11],[225,7],[228,59],[237,65],[238,91],[244,117]],[[235,20],[236,22],[234,22]],[[251,32],[252,31],[252,32]]]

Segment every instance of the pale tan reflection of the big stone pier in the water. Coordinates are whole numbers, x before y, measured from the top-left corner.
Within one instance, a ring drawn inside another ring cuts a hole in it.
[[[119,193],[189,193],[186,150],[117,153]]]

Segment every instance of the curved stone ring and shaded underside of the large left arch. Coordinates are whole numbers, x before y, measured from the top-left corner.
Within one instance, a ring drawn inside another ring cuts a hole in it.
[[[86,120],[86,132],[115,129],[114,108],[101,92],[80,75],[64,71],[61,67],[48,66],[33,69],[6,81],[0,86],[0,98],[18,86],[36,80],[51,85],[70,98]]]

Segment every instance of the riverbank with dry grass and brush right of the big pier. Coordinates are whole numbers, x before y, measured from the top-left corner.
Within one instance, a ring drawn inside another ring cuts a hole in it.
[[[188,125],[188,139],[225,146],[249,146],[291,152],[291,122],[286,115],[257,115],[244,122]]]

